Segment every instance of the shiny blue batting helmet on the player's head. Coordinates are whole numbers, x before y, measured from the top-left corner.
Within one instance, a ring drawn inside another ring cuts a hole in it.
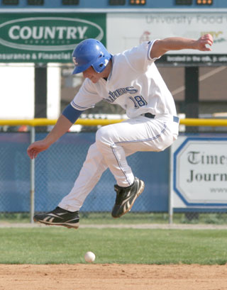
[[[110,59],[111,54],[99,40],[93,38],[83,40],[72,52],[72,61],[75,65],[72,74],[84,72],[91,66],[96,72],[102,72]]]

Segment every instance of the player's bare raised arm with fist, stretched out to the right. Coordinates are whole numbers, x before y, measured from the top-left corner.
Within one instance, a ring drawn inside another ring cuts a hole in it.
[[[210,47],[213,44],[213,37],[211,34],[205,34],[198,40],[190,38],[164,38],[162,40],[156,40],[153,44],[153,48],[150,50],[150,57],[160,57],[169,50],[201,50],[210,51]]]

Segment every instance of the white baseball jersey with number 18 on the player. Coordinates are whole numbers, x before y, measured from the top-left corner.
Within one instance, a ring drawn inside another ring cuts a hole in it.
[[[84,111],[101,100],[118,104],[126,110],[128,118],[143,113],[176,115],[175,102],[150,58],[153,42],[145,42],[131,50],[114,55],[113,67],[107,81],[94,84],[85,79],[71,105]]]

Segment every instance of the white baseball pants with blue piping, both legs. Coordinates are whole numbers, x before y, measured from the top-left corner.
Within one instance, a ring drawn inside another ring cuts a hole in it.
[[[67,211],[79,211],[107,167],[114,174],[118,186],[130,186],[134,175],[126,157],[138,151],[165,150],[177,139],[178,127],[171,115],[158,115],[153,119],[138,116],[101,127],[70,194],[58,206]]]

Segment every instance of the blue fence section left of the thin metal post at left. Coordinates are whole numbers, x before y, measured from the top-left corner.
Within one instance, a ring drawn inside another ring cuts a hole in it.
[[[0,133],[0,212],[29,211],[28,133]]]

